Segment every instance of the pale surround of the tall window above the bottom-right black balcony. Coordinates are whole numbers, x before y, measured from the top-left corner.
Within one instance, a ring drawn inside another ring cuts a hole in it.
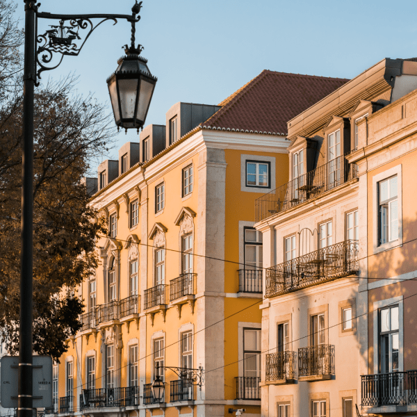
[[[375,301],[373,303],[373,340],[374,340],[374,374],[379,373],[379,309],[398,303],[398,368],[404,370],[404,297],[389,298],[387,300]]]

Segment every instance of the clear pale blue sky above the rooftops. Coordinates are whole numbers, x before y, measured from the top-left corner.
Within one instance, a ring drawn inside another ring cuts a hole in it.
[[[23,1],[17,1],[23,19]],[[130,14],[134,0],[41,0],[50,13]],[[158,76],[147,124],[162,124],[177,101],[218,104],[262,70],[352,78],[382,58],[417,56],[417,1],[143,0],[137,42]],[[51,22],[41,22],[39,33]],[[130,26],[104,23],[79,57],[44,79],[79,75],[79,92],[108,103],[107,77],[117,67]],[[119,133],[117,157],[136,131]],[[93,167],[95,168],[95,167]]]

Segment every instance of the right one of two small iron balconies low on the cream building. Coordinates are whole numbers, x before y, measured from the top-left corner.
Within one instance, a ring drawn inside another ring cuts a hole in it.
[[[334,345],[316,345],[298,349],[298,380],[317,381],[334,375]]]

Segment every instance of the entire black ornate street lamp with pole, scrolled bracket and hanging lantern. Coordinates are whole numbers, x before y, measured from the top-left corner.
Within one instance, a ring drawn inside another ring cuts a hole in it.
[[[150,74],[145,58],[139,56],[143,48],[140,45],[135,48],[136,23],[140,20],[138,13],[142,7],[142,1],[138,3],[136,0],[131,15],[54,15],[40,13],[38,11],[40,4],[35,0],[24,0],[24,5],[24,145],[17,416],[32,417],[33,113],[35,85],[39,85],[40,74],[58,67],[65,55],[78,56],[95,28],[107,20],[117,23],[117,19],[126,19],[132,25],[131,48],[126,47],[128,56],[119,61],[119,67],[108,81],[117,126],[124,129],[139,129],[145,124],[156,78]],[[52,25],[49,31],[38,35],[39,18],[58,19],[59,24]],[[101,20],[94,25],[92,19]],[[58,63],[54,62],[56,55],[60,56]]]

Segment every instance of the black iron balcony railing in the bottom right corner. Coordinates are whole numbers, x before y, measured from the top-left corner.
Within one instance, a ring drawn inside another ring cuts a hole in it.
[[[362,407],[417,404],[417,370],[361,378]]]

